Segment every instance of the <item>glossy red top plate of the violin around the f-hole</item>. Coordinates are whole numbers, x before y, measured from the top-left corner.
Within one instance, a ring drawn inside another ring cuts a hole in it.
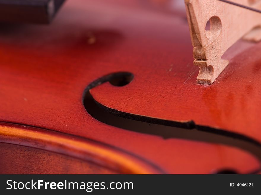
[[[257,170],[257,158],[241,149],[126,131],[86,112],[82,104],[86,86],[104,75],[127,71],[134,74],[129,85],[104,83],[93,88],[96,101],[123,112],[193,120],[261,139],[255,55],[259,45],[237,43],[241,54],[237,55],[237,47],[229,53],[235,57],[219,79],[211,86],[197,85],[198,68],[193,66],[184,12],[155,12],[136,1],[113,2],[69,0],[50,26],[3,24],[0,121],[102,142],[140,156],[166,173]]]

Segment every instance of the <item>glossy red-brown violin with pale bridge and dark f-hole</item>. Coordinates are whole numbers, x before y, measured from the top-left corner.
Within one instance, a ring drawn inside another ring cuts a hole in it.
[[[261,43],[227,43],[232,27],[221,17],[215,31],[219,20],[198,18],[193,2],[68,0],[48,25],[38,24],[48,14],[1,23],[0,173],[260,173]],[[221,34],[206,59],[193,56],[202,29],[191,10],[206,35]],[[195,60],[216,63],[208,82]]]

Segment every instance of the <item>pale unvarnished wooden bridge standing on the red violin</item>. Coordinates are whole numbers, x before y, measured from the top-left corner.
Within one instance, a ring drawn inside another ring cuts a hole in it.
[[[233,2],[261,8],[261,0]],[[261,40],[261,14],[217,0],[185,0],[185,4],[194,65],[200,69],[197,83],[212,84],[229,64],[221,59],[229,47],[242,37]]]

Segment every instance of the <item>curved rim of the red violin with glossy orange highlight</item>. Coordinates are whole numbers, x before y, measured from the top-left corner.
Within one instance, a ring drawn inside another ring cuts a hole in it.
[[[163,174],[159,167],[115,147],[47,129],[0,123],[0,142],[37,148],[107,167],[121,174]],[[3,150],[2,148],[1,150]],[[24,154],[26,155],[26,154]],[[1,161],[4,160],[3,157]],[[36,157],[34,157],[36,158]],[[34,165],[31,165],[32,167]],[[48,167],[46,167],[48,169]],[[73,167],[68,167],[74,169]],[[33,169],[33,168],[32,168]],[[1,169],[1,172],[4,170]],[[15,170],[14,170],[15,171]],[[15,173],[15,172],[14,172]]]

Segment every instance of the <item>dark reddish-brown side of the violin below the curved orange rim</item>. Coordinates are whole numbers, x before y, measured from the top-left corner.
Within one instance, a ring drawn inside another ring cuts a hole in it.
[[[0,174],[116,174],[106,167],[50,151],[0,143]]]

